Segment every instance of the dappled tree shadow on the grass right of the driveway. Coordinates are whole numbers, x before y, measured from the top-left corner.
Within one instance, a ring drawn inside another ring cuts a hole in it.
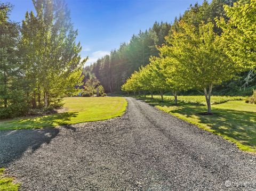
[[[173,102],[160,102],[159,99],[144,99],[152,106],[160,106],[170,114],[179,113],[189,118],[197,119],[198,123],[207,125],[211,131],[216,134],[236,142],[244,146],[249,146],[256,151],[256,113],[249,111],[237,111],[232,109],[212,108],[213,115],[201,115],[199,113],[206,112],[207,107],[203,105],[187,104],[179,102],[176,106]]]

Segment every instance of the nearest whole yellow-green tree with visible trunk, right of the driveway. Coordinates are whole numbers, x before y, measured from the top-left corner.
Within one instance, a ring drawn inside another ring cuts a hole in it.
[[[194,26],[180,22],[180,29],[167,37],[171,45],[169,55],[186,71],[182,77],[188,85],[204,90],[207,113],[211,113],[213,85],[233,78],[237,69],[223,51],[223,41],[214,32],[212,22],[200,24],[199,31]]]

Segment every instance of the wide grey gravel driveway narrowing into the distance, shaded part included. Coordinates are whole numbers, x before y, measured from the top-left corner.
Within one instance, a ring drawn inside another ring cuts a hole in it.
[[[127,98],[121,118],[0,131],[0,167],[21,190],[256,190],[256,157]]]

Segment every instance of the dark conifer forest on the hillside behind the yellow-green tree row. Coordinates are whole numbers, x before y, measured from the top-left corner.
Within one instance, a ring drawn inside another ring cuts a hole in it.
[[[222,29],[217,26],[214,18],[222,16],[227,21],[228,16],[223,5],[233,6],[234,2],[236,0],[213,0],[211,3],[204,1],[202,5],[196,3],[190,5],[189,9],[179,18],[175,18],[173,23],[154,23],[149,30],[140,31],[138,35],[133,35],[129,43],[121,44],[110,55],[106,55],[94,64],[85,67],[83,70],[84,81],[95,76],[106,92],[119,92],[121,86],[134,71],[138,71],[140,67],[149,64],[151,56],[158,56],[158,47],[168,44],[166,36],[172,34],[175,30],[179,30],[181,21],[196,27],[198,30],[202,22],[207,23],[210,20],[214,24],[214,32],[221,35]],[[243,2],[246,3],[246,1]],[[218,90],[220,94],[226,94],[229,90],[233,94],[235,91],[241,93],[240,89],[243,88],[248,89],[247,92],[243,90],[244,94],[251,94],[256,82],[255,72],[252,70],[250,72],[243,71],[239,72],[237,76],[235,79],[215,86],[215,90]]]

